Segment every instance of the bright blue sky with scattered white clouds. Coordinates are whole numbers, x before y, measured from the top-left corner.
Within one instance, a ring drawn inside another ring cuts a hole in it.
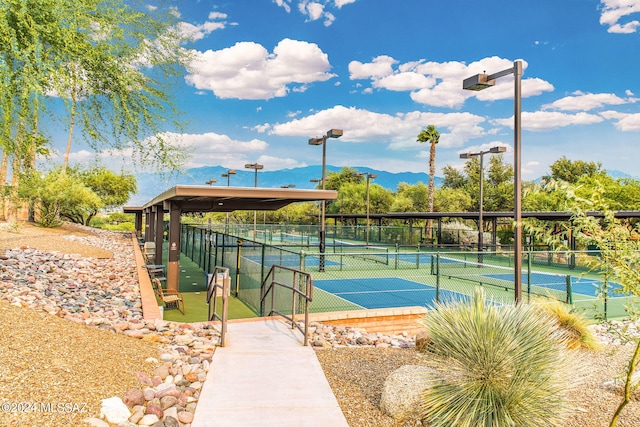
[[[513,78],[481,92],[462,80],[522,60],[523,179],[561,156],[640,176],[640,0],[172,4],[195,38],[175,93],[188,167],[320,165],[308,139],[339,128],[330,165],[428,172],[416,136],[429,124],[441,133],[438,176],[462,167],[460,153],[494,145],[511,163]],[[72,151],[75,161],[93,155],[79,142]]]

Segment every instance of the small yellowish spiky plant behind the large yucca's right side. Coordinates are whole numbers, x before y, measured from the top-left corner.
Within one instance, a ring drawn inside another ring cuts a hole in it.
[[[567,334],[567,344],[571,349],[600,347],[595,333],[589,329],[591,322],[582,313],[573,311],[570,305],[555,299],[535,299],[535,306],[548,313]]]

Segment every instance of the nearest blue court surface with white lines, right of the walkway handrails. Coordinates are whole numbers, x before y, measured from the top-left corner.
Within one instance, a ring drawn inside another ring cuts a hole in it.
[[[313,285],[367,309],[425,307],[436,302],[436,288],[398,277],[314,280]],[[440,301],[469,301],[469,296],[441,289]]]

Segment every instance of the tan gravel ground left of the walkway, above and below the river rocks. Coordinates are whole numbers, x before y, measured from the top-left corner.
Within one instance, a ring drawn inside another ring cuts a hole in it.
[[[2,224],[0,253],[32,247],[86,257],[113,256],[63,237],[89,234],[72,224],[57,229]],[[122,396],[139,385],[136,372],[153,371],[156,365],[145,359],[157,358],[159,349],[158,344],[1,302],[0,426],[84,425],[84,418],[100,414],[102,399]]]

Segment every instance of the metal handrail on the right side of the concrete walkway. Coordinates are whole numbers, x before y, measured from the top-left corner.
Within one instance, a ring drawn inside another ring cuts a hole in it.
[[[293,286],[287,285],[286,283],[282,283],[276,280],[276,270],[284,270],[286,272],[292,273],[293,275]],[[302,292],[296,284],[298,281],[304,280],[305,290]],[[270,281],[270,282],[269,282]],[[291,317],[286,314],[275,309],[275,288],[276,286],[289,289],[293,291],[291,293]],[[297,270],[291,267],[285,267],[282,265],[272,265],[271,269],[265,276],[262,286],[260,287],[260,315],[265,316],[264,305],[266,298],[269,294],[271,294],[271,309],[266,316],[273,316],[274,314],[280,315],[291,322],[291,329],[298,328],[298,330],[304,335],[304,345],[309,344],[309,303],[313,299],[313,276],[311,274]],[[295,320],[296,314],[296,297],[302,297],[304,300],[304,329],[298,325]]]

